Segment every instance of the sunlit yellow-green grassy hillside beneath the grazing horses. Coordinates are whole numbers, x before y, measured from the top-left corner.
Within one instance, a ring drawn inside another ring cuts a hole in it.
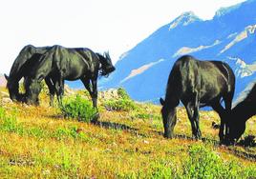
[[[40,107],[11,103],[6,92],[0,89],[0,178],[256,177],[255,147],[219,146],[214,111],[201,112],[204,139],[194,141],[179,108],[177,137],[166,140],[159,106],[130,101],[118,107],[131,108],[117,108],[115,94],[101,94],[100,122],[90,124],[50,108],[46,92]],[[256,135],[255,127],[254,117],[245,136]]]

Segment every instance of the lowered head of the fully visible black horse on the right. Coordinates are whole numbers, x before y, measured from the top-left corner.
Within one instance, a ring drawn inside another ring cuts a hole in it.
[[[166,138],[172,138],[173,129],[177,122],[176,108],[170,108],[162,98],[160,98],[160,104],[162,105],[160,112],[164,128],[163,136]]]

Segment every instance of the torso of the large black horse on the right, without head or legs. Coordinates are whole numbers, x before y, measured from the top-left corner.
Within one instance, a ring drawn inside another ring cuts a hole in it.
[[[202,61],[184,55],[175,62],[167,89],[171,93],[179,93],[181,101],[198,93],[202,102],[208,103],[228,93],[234,86],[232,79],[232,70],[230,72],[223,62]]]

